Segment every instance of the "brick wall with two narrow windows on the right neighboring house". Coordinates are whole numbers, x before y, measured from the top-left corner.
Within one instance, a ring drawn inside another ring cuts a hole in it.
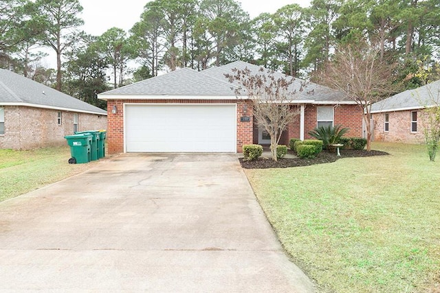
[[[373,114],[374,140],[400,143],[423,143],[423,111],[417,111],[417,132],[411,132],[411,111],[388,112],[389,131],[385,132],[385,113]]]

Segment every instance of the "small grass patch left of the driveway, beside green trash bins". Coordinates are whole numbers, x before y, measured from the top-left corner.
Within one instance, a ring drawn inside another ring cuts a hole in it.
[[[69,165],[69,147],[30,151],[0,150],[0,201],[25,194],[91,167]]]

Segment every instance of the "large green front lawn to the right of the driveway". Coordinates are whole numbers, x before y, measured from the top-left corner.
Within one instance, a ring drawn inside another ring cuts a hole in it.
[[[440,163],[423,145],[373,149],[391,155],[245,172],[320,292],[437,292]]]

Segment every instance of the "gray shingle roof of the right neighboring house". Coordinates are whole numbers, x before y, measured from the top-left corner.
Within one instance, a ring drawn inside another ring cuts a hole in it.
[[[440,104],[440,80],[383,99],[371,105],[371,113],[419,109]]]

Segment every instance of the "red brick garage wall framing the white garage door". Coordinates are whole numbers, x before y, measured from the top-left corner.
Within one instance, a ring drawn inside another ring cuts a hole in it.
[[[237,99],[114,99],[107,101],[108,128],[107,128],[107,150],[109,154],[124,152],[124,104],[237,104],[236,115],[236,149],[241,152],[243,144],[250,144],[253,141],[253,118],[252,104],[249,101]],[[249,122],[241,122],[243,106],[247,105],[246,116],[251,118]],[[111,113],[113,106],[118,109],[116,114]]]

